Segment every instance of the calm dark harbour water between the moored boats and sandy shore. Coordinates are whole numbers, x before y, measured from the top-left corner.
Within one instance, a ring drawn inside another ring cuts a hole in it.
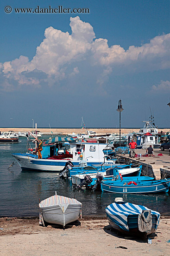
[[[120,195],[72,190],[69,180],[63,181],[56,173],[21,171],[11,153],[25,153],[26,139],[21,143],[0,144],[0,216],[38,216],[39,200],[55,195],[76,198],[82,202],[83,215],[105,215],[105,208]],[[170,215],[170,195],[124,195],[126,202],[143,204],[161,214]]]

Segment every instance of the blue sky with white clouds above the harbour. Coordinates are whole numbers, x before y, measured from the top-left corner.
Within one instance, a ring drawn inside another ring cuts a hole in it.
[[[120,99],[122,128],[170,127],[170,0],[2,0],[0,17],[0,127],[117,128]]]

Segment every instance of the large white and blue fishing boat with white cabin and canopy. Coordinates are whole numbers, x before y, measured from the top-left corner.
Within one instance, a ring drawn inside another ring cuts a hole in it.
[[[66,141],[69,141],[70,144],[70,154],[56,155],[58,142]],[[46,141],[43,148],[40,148],[41,152],[39,149],[37,150],[37,155],[27,153],[12,155],[22,170],[59,172],[68,161],[72,161],[77,167],[82,160],[86,161],[88,165],[102,164],[105,157],[102,150],[106,145],[106,143],[75,142],[73,138],[56,137]]]

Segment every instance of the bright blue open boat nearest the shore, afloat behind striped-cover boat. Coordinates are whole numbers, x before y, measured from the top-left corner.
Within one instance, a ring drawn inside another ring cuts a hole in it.
[[[125,182],[102,181],[101,190],[105,192],[121,194],[153,194],[168,193],[170,189],[170,179],[158,181],[138,181]]]

